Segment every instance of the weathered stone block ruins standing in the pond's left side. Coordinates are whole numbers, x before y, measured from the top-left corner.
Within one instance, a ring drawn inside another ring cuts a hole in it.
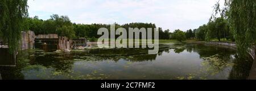
[[[80,40],[79,42],[81,42]],[[82,40],[85,40],[85,39],[82,39]],[[59,37],[57,34],[35,36],[35,33],[33,31],[26,31],[26,32],[22,31],[19,48],[20,49],[39,48],[39,49],[43,49],[45,51],[51,51],[51,52],[56,51],[57,49],[69,51],[69,49],[72,48],[72,43],[73,43],[72,40],[68,39],[65,36]],[[15,67],[17,53],[13,53],[13,55],[11,55],[9,53],[8,44],[3,42],[3,40],[0,38],[0,67]]]

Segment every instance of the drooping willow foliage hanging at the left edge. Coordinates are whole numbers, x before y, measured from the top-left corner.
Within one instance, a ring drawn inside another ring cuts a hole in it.
[[[28,16],[27,9],[27,0],[0,2],[0,30],[3,40],[8,43],[10,53],[14,53],[19,47],[23,21]]]

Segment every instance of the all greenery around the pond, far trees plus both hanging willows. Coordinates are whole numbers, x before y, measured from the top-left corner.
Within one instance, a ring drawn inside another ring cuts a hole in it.
[[[16,4],[13,5],[12,3]],[[196,29],[176,29],[174,32],[170,32],[171,30],[163,30],[154,23],[113,24],[115,24],[115,28],[123,27],[126,30],[129,27],[158,28],[159,39],[176,39],[179,42],[189,39],[208,42],[212,39],[218,42],[221,39],[224,41],[231,40],[236,42],[237,52],[242,57],[256,41],[255,3],[256,1],[225,0],[225,3],[221,5],[218,1],[213,7],[213,14],[209,16],[209,22]],[[110,28],[110,24],[76,24],[65,15],[53,14],[47,20],[39,19],[38,16],[32,18],[28,15],[27,0],[4,0],[0,3],[0,11],[3,11],[0,13],[0,40],[8,43],[10,53],[14,53],[18,49],[21,39],[20,33],[23,30],[34,31],[36,35],[58,34],[59,36],[67,36],[69,39],[88,38],[95,40],[100,37],[97,35],[99,28]]]

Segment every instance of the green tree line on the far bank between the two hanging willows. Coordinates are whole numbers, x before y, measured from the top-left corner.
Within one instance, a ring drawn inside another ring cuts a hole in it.
[[[24,19],[24,29],[34,31],[36,35],[39,34],[58,34],[59,36],[67,36],[68,38],[89,38],[96,39],[100,38],[97,35],[99,28],[105,27],[110,31],[111,24],[76,24],[72,23],[68,16],[53,14],[50,19],[42,20],[38,16],[34,18]],[[127,31],[129,28],[156,28],[154,23],[127,23],[117,24],[115,28],[123,27]],[[128,31],[129,32],[129,31]],[[164,30],[159,27],[159,39],[176,39],[180,42],[188,39],[197,40],[210,40],[210,39],[231,39],[234,41],[234,37],[231,34],[228,20],[221,17],[211,20],[208,24],[204,24],[197,29],[189,29],[187,31],[175,30]],[[127,33],[129,34],[129,33]],[[154,32],[152,33],[154,34]],[[0,33],[3,36],[3,33]]]

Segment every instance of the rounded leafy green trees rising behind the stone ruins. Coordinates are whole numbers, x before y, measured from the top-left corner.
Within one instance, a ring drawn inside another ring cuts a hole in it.
[[[51,19],[42,20],[38,16],[26,19],[27,30],[32,30],[36,35],[39,34],[58,34],[75,38],[75,31],[71,20],[68,16],[51,15]]]

